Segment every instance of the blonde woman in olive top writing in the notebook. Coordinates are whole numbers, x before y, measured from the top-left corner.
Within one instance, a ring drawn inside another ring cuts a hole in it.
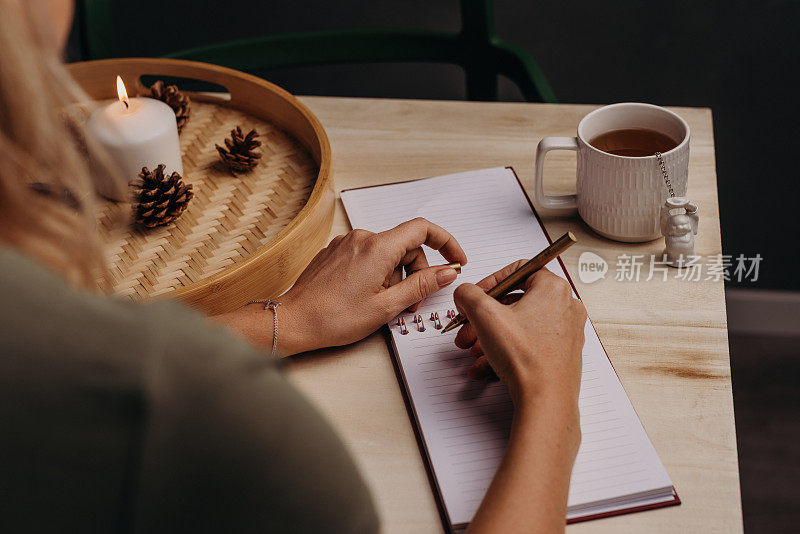
[[[72,4],[0,0],[0,13],[0,530],[375,531],[341,442],[264,354],[272,311],[246,306],[213,327],[97,290],[91,175],[64,126],[78,127],[67,110],[81,95],[58,60]],[[451,284],[422,246],[467,261],[421,219],[335,238],[281,296],[278,350],[354,342]],[[586,314],[549,272],[504,304],[487,297],[515,267],[455,294],[470,375],[496,372],[516,407],[470,529],[558,532]]]

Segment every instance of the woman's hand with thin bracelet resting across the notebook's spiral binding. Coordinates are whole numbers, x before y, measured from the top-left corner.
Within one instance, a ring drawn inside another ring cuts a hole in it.
[[[455,238],[422,218],[379,234],[353,230],[335,237],[278,299],[281,354],[358,341],[403,310],[415,311],[425,297],[453,283],[456,271],[429,267],[422,245],[438,250],[448,262],[467,263]],[[263,308],[250,305],[219,319],[269,347],[272,317]]]

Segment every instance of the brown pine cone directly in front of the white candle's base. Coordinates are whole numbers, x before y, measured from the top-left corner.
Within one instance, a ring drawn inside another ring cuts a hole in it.
[[[180,174],[164,176],[163,164],[152,172],[142,167],[139,179],[131,185],[136,195],[136,222],[148,228],[180,217],[194,196],[192,184],[184,184]]]

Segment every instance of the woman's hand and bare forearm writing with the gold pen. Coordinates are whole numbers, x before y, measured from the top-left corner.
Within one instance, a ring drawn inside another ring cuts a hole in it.
[[[514,420],[503,460],[468,532],[564,532],[569,479],[581,442],[578,393],[586,310],[569,284],[546,269],[503,302],[485,291],[522,265],[509,265],[456,289],[469,318],[456,345],[478,358],[470,375],[491,369],[506,382]]]

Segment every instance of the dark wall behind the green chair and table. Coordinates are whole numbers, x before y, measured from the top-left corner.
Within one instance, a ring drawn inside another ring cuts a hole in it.
[[[747,287],[800,289],[794,243],[800,2],[496,0],[495,6],[499,35],[533,54],[561,102],[711,107],[723,251],[764,258],[760,279]],[[148,56],[288,31],[457,31],[458,7],[457,0],[140,0],[114,2],[114,31],[124,43],[121,55]],[[347,65],[264,75],[296,94],[464,98],[463,73],[453,66]],[[521,99],[508,82],[501,98]]]

